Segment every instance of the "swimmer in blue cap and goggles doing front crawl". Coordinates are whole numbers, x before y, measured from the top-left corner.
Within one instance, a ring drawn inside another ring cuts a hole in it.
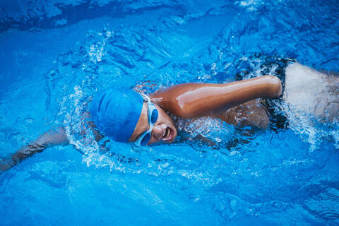
[[[329,120],[338,114],[338,101],[331,101],[335,95],[335,100],[338,99],[338,78],[299,63],[287,66],[285,75],[283,100],[287,104]],[[323,88],[315,90],[319,81]],[[336,88],[333,85],[337,85]],[[260,76],[225,84],[184,83],[150,96],[129,88],[112,87],[93,97],[90,103],[92,121],[88,127],[93,130],[96,141],[107,136],[114,141],[133,142],[139,146],[157,142],[171,143],[175,140],[177,129],[169,114],[183,119],[209,116],[235,126],[266,129],[270,117],[260,100],[280,97],[282,92],[282,83],[274,76]],[[328,102],[331,104],[328,105]],[[239,112],[244,120],[235,119]],[[10,160],[1,162],[0,159],[0,169],[9,169],[45,148],[68,143],[63,128],[48,131],[20,148]]]

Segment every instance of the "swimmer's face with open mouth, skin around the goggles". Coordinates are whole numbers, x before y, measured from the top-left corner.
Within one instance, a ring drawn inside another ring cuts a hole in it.
[[[155,105],[155,104],[154,104]],[[148,145],[157,142],[166,142],[172,143],[174,139],[177,137],[177,129],[175,129],[173,120],[169,115],[162,109],[161,107],[155,105],[158,111],[157,122],[155,122],[152,130],[152,136]],[[143,102],[143,110],[141,111],[141,116],[138,120],[138,124],[136,124],[136,129],[134,129],[131,138],[129,141],[136,141],[138,136],[140,136],[143,132],[147,131],[150,128],[150,124],[148,123],[148,107],[147,102]]]

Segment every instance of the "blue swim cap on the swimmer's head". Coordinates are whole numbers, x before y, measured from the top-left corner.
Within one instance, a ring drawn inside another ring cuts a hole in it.
[[[90,115],[105,136],[128,142],[143,109],[143,97],[124,87],[111,87],[93,97]]]

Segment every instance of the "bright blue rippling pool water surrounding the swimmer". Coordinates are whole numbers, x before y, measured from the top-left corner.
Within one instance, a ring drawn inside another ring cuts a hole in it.
[[[177,142],[142,150],[112,141],[102,148],[79,133],[85,103],[112,83],[144,84],[147,93],[224,83],[277,75],[286,58],[338,72],[338,7],[1,2],[0,157],[57,126],[72,145],[0,174],[0,225],[338,225],[337,121],[316,124],[285,109],[287,129],[244,136],[246,129],[215,119],[179,120]]]

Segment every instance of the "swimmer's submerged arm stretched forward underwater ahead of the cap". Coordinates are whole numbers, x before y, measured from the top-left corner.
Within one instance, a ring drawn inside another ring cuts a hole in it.
[[[38,137],[35,141],[32,141],[28,145],[24,145],[15,154],[11,155],[9,160],[3,160],[0,158],[0,170],[5,171],[16,165],[21,160],[34,155],[35,153],[41,153],[44,149],[55,145],[66,145],[69,143],[69,139],[66,136],[64,128],[58,128],[47,131]]]

